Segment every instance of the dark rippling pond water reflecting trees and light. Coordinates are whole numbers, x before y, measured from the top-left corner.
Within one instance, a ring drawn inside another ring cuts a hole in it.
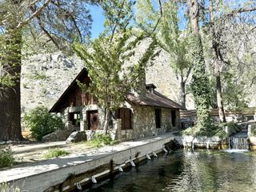
[[[142,162],[86,191],[256,191],[256,153],[181,150]]]

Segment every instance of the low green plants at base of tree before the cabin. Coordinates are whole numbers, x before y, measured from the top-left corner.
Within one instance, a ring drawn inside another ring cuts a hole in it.
[[[117,144],[118,141],[113,140],[110,137],[110,134],[94,134],[94,137],[91,139],[92,146],[113,146]]]

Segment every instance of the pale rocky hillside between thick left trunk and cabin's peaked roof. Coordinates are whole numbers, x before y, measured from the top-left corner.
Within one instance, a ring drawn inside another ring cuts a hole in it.
[[[50,108],[84,67],[81,59],[62,53],[37,54],[22,61],[22,112]]]

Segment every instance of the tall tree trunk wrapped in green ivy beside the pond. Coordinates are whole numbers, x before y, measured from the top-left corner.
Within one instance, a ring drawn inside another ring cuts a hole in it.
[[[197,110],[198,133],[206,134],[210,129],[210,89],[206,76],[206,65],[203,54],[202,41],[199,34],[199,8],[196,0],[188,0],[190,22],[192,27],[191,46],[193,64],[192,93]]]

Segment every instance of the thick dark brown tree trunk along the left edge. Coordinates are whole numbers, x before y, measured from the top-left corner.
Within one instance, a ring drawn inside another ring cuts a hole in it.
[[[0,140],[22,140],[20,73],[22,61],[22,32],[6,32],[6,53],[3,68],[14,77],[14,86],[0,85]]]

